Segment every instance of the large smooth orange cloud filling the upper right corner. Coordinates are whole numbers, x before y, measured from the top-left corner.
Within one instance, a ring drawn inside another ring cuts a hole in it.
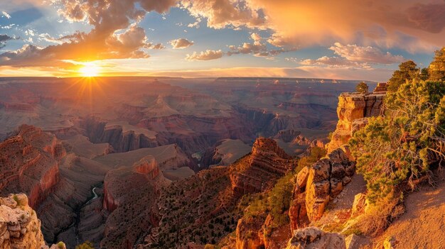
[[[264,11],[266,25],[274,31],[269,42],[277,46],[339,41],[431,52],[445,37],[443,0],[246,1],[251,9]]]

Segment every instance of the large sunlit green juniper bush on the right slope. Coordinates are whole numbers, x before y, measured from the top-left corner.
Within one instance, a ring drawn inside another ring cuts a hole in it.
[[[414,79],[385,99],[385,116],[370,118],[350,148],[373,203],[395,185],[420,177],[445,159],[445,82]]]

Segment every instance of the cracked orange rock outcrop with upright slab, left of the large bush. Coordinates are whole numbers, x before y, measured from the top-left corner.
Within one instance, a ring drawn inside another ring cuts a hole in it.
[[[355,163],[348,158],[345,150],[345,147],[333,150],[299,172],[289,209],[291,231],[321,218],[328,202],[350,182]]]

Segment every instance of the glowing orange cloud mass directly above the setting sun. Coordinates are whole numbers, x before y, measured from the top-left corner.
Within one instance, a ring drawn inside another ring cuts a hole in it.
[[[46,48],[28,45],[0,55],[0,65],[60,66],[60,60],[92,61],[146,58],[149,47],[143,28],[136,26],[148,11],[163,13],[176,5],[173,0],[53,0],[60,16],[92,26],[89,33],[76,32],[62,38],[41,39],[57,43]],[[160,47],[159,47],[160,48]],[[32,52],[31,52],[32,51]],[[34,57],[33,57],[34,56]],[[63,65],[63,64],[62,64]]]

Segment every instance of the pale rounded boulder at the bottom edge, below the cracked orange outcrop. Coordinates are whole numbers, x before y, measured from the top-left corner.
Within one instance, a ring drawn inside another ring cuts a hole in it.
[[[286,249],[345,249],[345,239],[338,233],[325,233],[316,227],[294,231]]]

